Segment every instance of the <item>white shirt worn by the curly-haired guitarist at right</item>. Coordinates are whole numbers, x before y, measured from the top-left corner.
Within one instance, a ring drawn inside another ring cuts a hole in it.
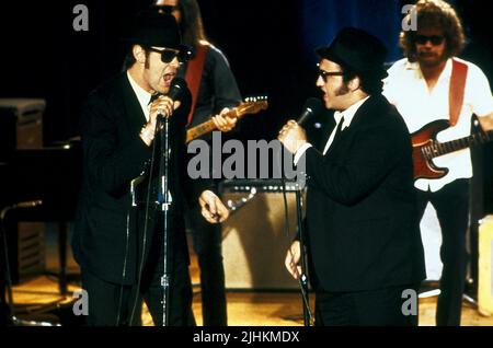
[[[457,125],[438,132],[437,140],[440,142],[468,137],[471,132],[471,115],[474,113],[481,117],[493,112],[493,97],[484,73],[475,65],[458,60],[468,65],[463,104]],[[449,119],[451,67],[452,60],[448,59],[432,91],[417,62],[401,59],[389,69],[389,77],[383,80],[383,94],[395,105],[410,132],[415,132],[434,120]],[[433,162],[437,166],[448,167],[448,174],[436,179],[420,178],[414,183],[416,188],[437,192],[457,178],[472,176],[469,149],[435,158]]]

